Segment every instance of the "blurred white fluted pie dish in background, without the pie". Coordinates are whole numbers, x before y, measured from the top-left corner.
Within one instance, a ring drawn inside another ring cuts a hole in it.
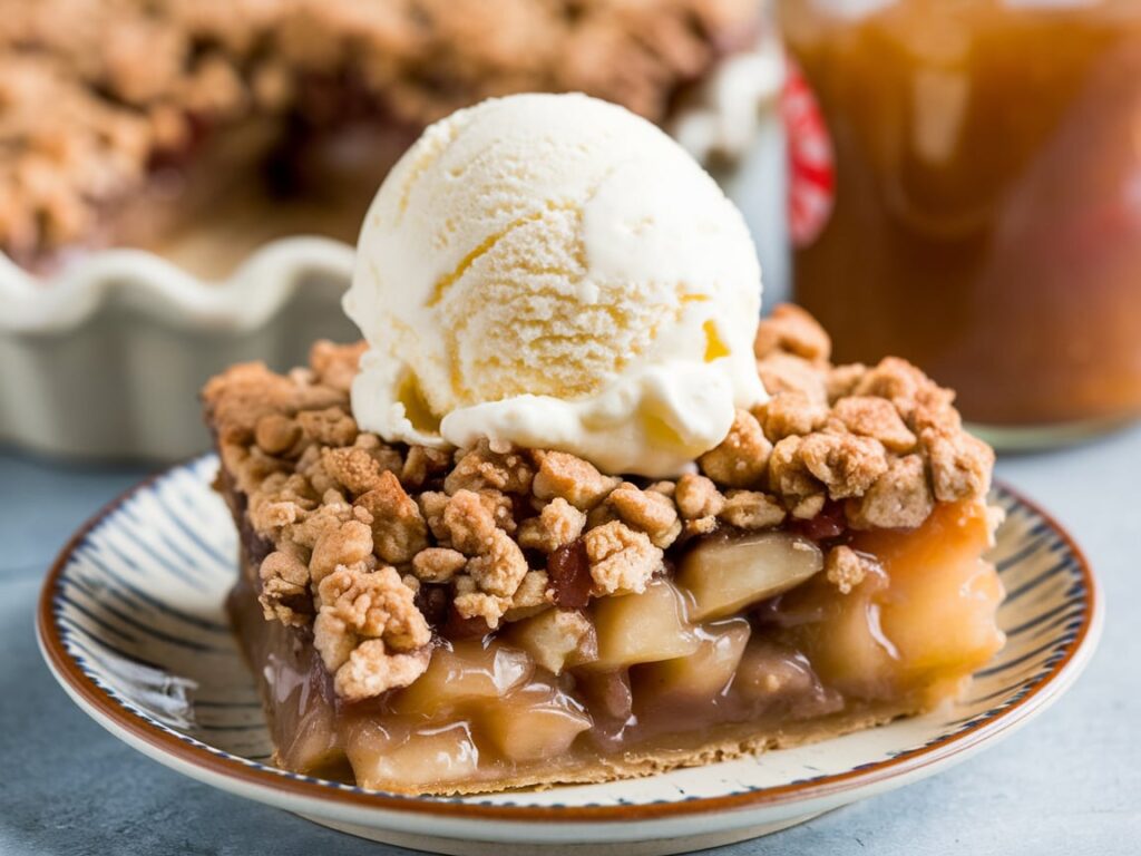
[[[768,41],[725,63],[669,129],[745,211],[769,294],[785,264],[782,80]],[[79,255],[42,276],[0,253],[0,444],[80,459],[200,452],[196,394],[212,374],[248,360],[284,370],[315,339],[358,336],[340,309],[351,272],[351,247],[309,236],[264,244],[220,280],[137,249]]]

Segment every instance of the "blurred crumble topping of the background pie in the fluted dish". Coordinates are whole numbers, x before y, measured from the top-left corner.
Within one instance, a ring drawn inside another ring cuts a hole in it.
[[[249,118],[418,129],[584,91],[659,121],[756,21],[752,0],[0,0],[0,248],[92,239],[108,202]]]

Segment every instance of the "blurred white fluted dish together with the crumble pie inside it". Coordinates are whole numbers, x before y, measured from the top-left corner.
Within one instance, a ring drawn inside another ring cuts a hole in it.
[[[647,34],[617,11],[592,29],[585,18],[540,19],[527,3],[491,13],[472,2],[423,2],[419,13],[301,3],[304,26],[277,21],[276,3],[160,6],[157,24],[151,13],[116,24],[94,70],[73,57],[94,49],[84,40],[111,14],[99,3],[52,0],[13,25],[0,137],[32,155],[0,168],[0,442],[83,458],[203,450],[193,398],[211,374],[250,358],[284,369],[316,338],[355,337],[339,313],[353,264],[343,242],[416,131],[486,95],[547,81],[658,113],[703,162],[721,164],[728,187],[772,207],[756,211],[758,223],[782,219],[769,110],[782,59],[771,39],[753,47],[747,2],[693,0],[687,8],[707,16],[696,37],[671,29],[669,16]],[[488,15],[510,43],[487,35]],[[58,23],[72,18],[74,27]],[[298,38],[306,32],[313,38]],[[634,35],[661,49],[621,80],[597,74]],[[462,68],[440,53],[460,56]],[[186,67],[179,57],[189,57]],[[259,64],[265,57],[273,62]],[[100,99],[107,90],[114,97]],[[67,110],[44,111],[44,102]],[[331,103],[347,105],[346,116],[326,115]],[[246,186],[267,169],[304,204]],[[310,234],[323,237],[292,237]],[[762,244],[783,253],[778,233]],[[137,249],[104,249],[116,245]]]

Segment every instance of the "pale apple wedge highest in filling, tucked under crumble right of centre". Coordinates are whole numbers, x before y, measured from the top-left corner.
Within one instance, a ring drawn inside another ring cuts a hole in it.
[[[766,532],[698,543],[681,559],[678,584],[694,596],[694,621],[720,619],[800,586],[824,567],[800,535]]]

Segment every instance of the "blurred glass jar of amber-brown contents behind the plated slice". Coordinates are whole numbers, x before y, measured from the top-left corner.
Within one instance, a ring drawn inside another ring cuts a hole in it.
[[[779,8],[837,361],[907,357],[1006,447],[1141,414],[1141,0]]]

